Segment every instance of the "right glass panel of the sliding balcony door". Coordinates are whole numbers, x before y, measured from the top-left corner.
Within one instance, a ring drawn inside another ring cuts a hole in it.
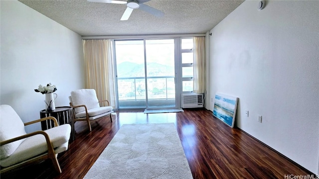
[[[148,108],[175,107],[174,39],[146,40]]]

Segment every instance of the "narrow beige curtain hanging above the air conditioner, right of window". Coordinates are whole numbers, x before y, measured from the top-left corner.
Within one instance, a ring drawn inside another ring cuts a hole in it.
[[[194,92],[205,92],[205,37],[194,37]]]

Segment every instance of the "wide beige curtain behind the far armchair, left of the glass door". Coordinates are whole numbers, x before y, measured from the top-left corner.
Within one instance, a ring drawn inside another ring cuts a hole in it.
[[[112,46],[109,39],[84,39],[85,88],[95,89],[99,100],[115,107]],[[103,105],[106,105],[103,104]]]

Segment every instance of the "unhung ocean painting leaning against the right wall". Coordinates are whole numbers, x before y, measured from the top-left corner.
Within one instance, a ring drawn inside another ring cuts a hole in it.
[[[238,97],[216,92],[213,115],[230,127],[234,127],[237,102]]]

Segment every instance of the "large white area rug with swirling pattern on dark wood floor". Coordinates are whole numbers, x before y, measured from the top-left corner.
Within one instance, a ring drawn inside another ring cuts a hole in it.
[[[123,124],[84,179],[193,179],[173,123]]]

